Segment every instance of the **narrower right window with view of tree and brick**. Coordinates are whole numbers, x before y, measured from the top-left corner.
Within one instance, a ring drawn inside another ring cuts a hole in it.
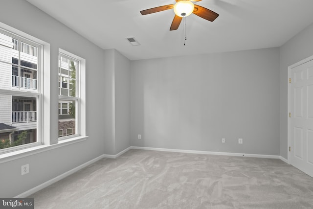
[[[67,136],[77,136],[78,114],[80,108],[79,81],[76,79],[80,73],[80,61],[59,53],[59,130],[65,132],[59,134],[59,139],[67,139]],[[61,85],[60,85],[61,82]]]

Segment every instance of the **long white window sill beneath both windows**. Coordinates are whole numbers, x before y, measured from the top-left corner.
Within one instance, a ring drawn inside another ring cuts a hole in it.
[[[35,154],[45,152],[48,150],[57,149],[57,148],[60,148],[60,147],[63,147],[63,146],[69,145],[69,144],[85,141],[87,138],[88,138],[88,136],[75,137],[75,138],[60,140],[59,143],[57,143],[57,144],[51,144],[51,145],[43,144],[43,145],[39,145],[39,146],[34,146],[34,147],[22,149],[22,150],[3,153],[3,154],[0,154],[0,163],[6,163],[9,161],[14,161],[14,160],[24,158],[24,157],[27,157],[30,155],[35,155]]]

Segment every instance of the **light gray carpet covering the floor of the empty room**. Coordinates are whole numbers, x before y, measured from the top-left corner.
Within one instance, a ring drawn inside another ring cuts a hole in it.
[[[312,209],[313,178],[276,159],[130,150],[30,197],[35,209]]]

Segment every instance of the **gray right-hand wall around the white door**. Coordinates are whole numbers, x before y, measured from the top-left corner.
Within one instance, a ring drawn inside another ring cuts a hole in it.
[[[280,47],[280,156],[288,158],[288,66],[313,55],[313,24]]]

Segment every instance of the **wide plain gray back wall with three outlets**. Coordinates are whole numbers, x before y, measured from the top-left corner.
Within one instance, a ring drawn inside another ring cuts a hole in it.
[[[279,154],[279,48],[138,60],[131,70],[133,146]]]

